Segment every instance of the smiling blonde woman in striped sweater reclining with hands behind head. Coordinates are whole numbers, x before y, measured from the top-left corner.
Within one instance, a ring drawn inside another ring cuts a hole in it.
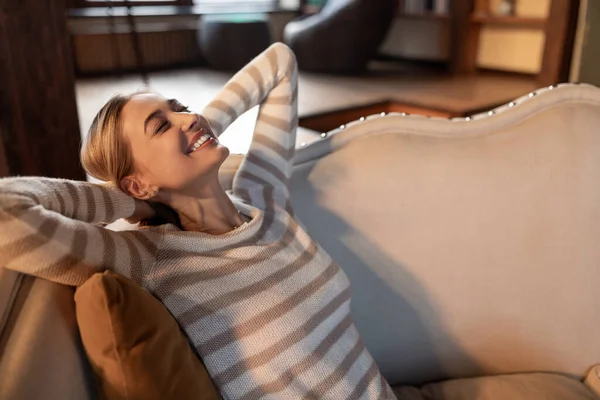
[[[114,188],[0,180],[0,265],[74,286],[104,269],[130,277],[175,316],[227,399],[393,399],[351,321],[347,278],[291,214],[296,81],[293,53],[275,44],[202,115],[156,94],[113,98],[82,163]],[[217,138],[257,104],[229,196]],[[148,200],[172,223],[153,225]],[[150,224],[98,226],[119,218]]]

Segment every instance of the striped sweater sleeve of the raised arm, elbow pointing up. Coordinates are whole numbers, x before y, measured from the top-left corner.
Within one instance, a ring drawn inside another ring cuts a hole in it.
[[[259,207],[275,202],[291,211],[288,184],[298,126],[297,80],[294,53],[275,43],[234,75],[203,111],[220,134],[260,104],[250,149],[233,181],[233,193]]]

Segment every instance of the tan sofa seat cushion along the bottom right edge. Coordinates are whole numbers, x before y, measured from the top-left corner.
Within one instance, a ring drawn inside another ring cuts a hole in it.
[[[598,400],[576,379],[555,374],[516,374],[456,379],[421,390],[394,388],[398,400]],[[420,397],[419,397],[420,396]]]

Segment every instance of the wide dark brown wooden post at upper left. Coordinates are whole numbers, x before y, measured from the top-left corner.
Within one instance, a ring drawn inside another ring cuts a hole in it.
[[[0,174],[85,179],[74,85],[64,0],[0,0]]]

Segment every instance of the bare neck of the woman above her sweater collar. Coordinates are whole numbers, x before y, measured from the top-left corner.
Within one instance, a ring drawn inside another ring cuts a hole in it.
[[[161,202],[177,212],[186,231],[221,235],[244,222],[218,179],[194,190],[160,193],[159,196]]]

